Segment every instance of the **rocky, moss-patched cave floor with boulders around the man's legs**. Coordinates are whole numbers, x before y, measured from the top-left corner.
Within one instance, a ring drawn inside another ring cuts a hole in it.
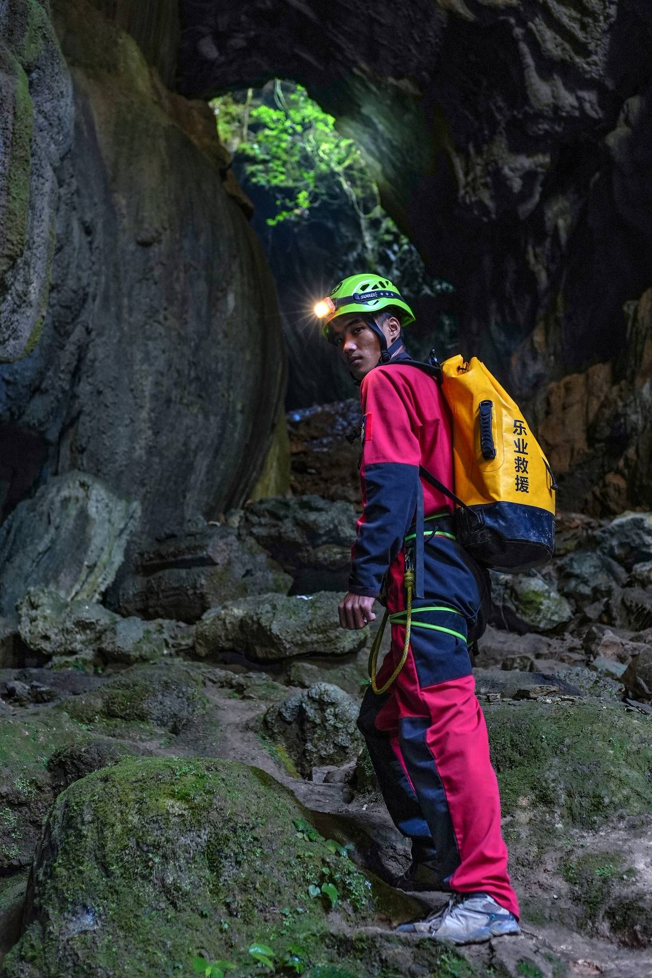
[[[328,414],[290,419],[313,490]],[[260,500],[124,559],[101,483],[89,507],[52,480],[3,524],[3,978],[190,975],[196,958],[652,975],[652,515],[562,514],[549,567],[494,575],[476,683],[523,937],[439,948],[393,933],[443,897],[391,885],[409,851],[355,726],[371,636],[334,625],[356,515],[342,459],[328,500]],[[57,553],[76,541],[67,564],[22,546],[48,512]]]

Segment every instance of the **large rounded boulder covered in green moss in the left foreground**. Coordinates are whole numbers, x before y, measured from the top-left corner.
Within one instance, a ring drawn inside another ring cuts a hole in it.
[[[4,978],[191,974],[196,955],[253,976],[254,943],[279,960],[298,945],[309,967],[368,974],[351,925],[387,926],[415,909],[367,879],[273,778],[178,758],[126,759],[70,785],[47,822],[29,900]],[[376,934],[361,940],[377,957]],[[423,943],[436,973],[440,952]]]

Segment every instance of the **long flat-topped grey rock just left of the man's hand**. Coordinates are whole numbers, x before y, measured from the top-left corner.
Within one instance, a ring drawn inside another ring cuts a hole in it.
[[[211,608],[196,624],[196,654],[205,657],[244,652],[260,662],[297,655],[340,656],[366,644],[365,632],[339,627],[340,596],[263,595],[227,601]]]

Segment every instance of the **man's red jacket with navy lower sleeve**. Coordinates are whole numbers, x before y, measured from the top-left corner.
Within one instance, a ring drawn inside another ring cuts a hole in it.
[[[375,598],[403,548],[418,493],[423,493],[426,516],[454,511],[452,502],[423,481],[418,470],[423,466],[453,486],[452,423],[439,384],[401,360],[370,371],[360,396],[365,414],[360,467],[364,511],[352,550],[349,590]]]

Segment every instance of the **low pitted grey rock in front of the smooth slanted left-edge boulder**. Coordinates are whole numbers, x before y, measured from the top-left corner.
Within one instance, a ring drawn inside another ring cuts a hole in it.
[[[19,602],[19,630],[24,644],[55,668],[133,665],[193,647],[193,630],[180,622],[121,618],[102,604],[66,601],[47,588],[31,588]]]

